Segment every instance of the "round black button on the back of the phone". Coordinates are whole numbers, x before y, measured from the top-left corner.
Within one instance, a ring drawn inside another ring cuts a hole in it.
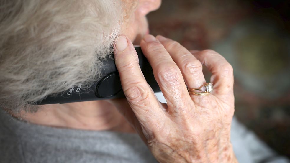
[[[105,76],[96,86],[96,96],[108,98],[115,96],[122,90],[120,76],[118,72],[113,72]]]

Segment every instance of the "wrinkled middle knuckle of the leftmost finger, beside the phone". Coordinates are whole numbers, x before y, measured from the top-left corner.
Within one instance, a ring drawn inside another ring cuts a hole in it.
[[[145,91],[140,87],[142,83],[136,85],[124,90],[124,94],[130,103],[134,105],[145,105],[149,101],[149,91]]]

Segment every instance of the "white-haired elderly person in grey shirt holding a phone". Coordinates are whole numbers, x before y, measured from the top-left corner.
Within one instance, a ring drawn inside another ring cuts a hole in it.
[[[0,162],[237,162],[232,67],[212,50],[149,35],[145,15],[160,3],[1,1]],[[134,44],[167,104],[146,83]],[[28,104],[99,79],[112,46],[126,99]],[[207,96],[194,92],[206,83],[202,64],[212,72]]]

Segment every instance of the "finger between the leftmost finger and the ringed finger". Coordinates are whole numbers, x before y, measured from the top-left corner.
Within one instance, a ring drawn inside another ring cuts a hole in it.
[[[168,112],[185,113],[191,98],[186,89],[181,71],[164,46],[152,35],[146,35],[140,47],[150,63],[168,105]]]

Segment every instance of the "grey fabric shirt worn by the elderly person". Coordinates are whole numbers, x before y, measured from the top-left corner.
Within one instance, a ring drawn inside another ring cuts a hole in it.
[[[240,163],[287,163],[235,118],[231,141]],[[137,134],[30,124],[0,111],[0,163],[154,163]]]

